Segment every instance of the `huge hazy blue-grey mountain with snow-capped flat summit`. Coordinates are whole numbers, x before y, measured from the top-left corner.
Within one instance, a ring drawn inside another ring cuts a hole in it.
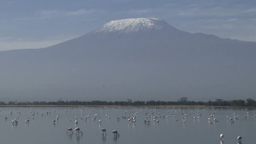
[[[256,97],[256,42],[184,32],[157,18],[114,20],[41,49],[0,52],[1,100]]]

